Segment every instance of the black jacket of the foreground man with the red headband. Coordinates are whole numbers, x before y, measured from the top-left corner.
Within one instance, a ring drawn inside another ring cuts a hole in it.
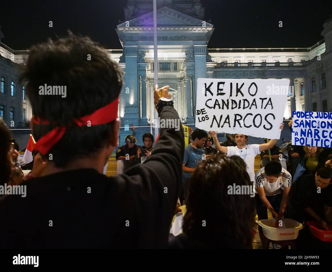
[[[169,106],[159,116],[179,119]],[[80,169],[27,181],[26,197],[0,203],[0,248],[166,248],[183,138],[182,128],[161,129],[146,162],[121,175]]]

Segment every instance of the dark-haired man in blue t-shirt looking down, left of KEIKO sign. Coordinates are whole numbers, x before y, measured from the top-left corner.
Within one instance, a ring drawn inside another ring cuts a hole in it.
[[[198,163],[206,154],[203,145],[207,139],[207,133],[204,130],[196,129],[192,134],[192,142],[185,147],[182,164],[182,186],[184,199],[187,198],[189,180]]]

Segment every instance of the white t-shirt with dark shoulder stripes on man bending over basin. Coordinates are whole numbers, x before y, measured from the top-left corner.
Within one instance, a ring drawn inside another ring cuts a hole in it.
[[[291,186],[291,175],[290,173],[282,168],[281,177],[277,179],[276,182],[270,183],[265,178],[264,167],[259,169],[255,175],[255,183],[254,183],[254,192],[257,194],[255,188],[264,187],[264,192],[266,196],[275,196],[280,194],[280,188],[282,187],[290,187]]]

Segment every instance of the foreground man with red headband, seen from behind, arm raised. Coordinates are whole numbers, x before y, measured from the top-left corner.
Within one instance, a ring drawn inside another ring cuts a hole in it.
[[[27,182],[25,198],[0,204],[0,248],[166,248],[183,129],[162,128],[145,163],[107,177],[103,167],[118,145],[121,67],[89,38],[69,34],[33,46],[25,69],[35,149],[48,162]],[[65,86],[66,97],[40,95],[45,84]],[[156,86],[158,115],[179,119],[168,89]]]

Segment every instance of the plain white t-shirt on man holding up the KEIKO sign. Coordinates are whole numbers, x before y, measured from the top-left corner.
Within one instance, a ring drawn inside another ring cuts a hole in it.
[[[244,148],[240,149],[237,146],[227,146],[227,156],[239,156],[247,164],[247,172],[250,181],[255,181],[255,157],[259,155],[259,144],[246,144]]]

